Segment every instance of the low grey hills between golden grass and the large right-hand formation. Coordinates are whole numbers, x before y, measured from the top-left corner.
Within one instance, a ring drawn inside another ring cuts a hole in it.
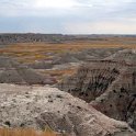
[[[122,50],[122,48],[88,48],[80,52],[64,53],[55,57],[53,65],[103,59],[118,50]]]

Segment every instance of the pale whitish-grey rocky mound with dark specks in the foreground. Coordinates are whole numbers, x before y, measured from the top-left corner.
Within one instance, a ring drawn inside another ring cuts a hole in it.
[[[44,129],[48,125],[70,136],[136,136],[127,124],[55,88],[0,84],[0,126]]]

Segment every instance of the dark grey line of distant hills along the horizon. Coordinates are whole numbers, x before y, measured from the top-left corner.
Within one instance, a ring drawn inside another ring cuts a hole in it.
[[[116,38],[136,38],[136,35],[63,35],[63,34],[38,34],[38,33],[5,33],[0,34],[0,45],[11,43],[34,43],[34,42],[47,42],[47,43],[63,43],[67,41],[111,41]]]

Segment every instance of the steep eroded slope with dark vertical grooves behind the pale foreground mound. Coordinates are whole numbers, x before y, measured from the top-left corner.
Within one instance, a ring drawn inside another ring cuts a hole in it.
[[[111,60],[83,64],[77,73],[58,83],[58,88],[90,102],[104,93],[125,68],[125,64]]]

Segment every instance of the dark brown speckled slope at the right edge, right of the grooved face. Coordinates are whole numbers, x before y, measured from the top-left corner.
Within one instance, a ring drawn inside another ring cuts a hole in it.
[[[136,129],[136,67],[120,78],[91,104],[105,115],[127,122]]]

